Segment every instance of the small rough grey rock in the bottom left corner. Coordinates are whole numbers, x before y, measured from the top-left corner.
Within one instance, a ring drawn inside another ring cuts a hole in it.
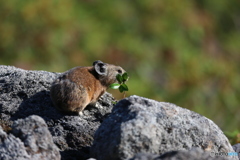
[[[60,153],[45,121],[30,116],[15,121],[9,135],[0,127],[0,159],[60,160]]]

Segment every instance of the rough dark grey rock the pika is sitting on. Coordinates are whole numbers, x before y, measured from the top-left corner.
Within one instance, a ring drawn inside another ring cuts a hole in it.
[[[8,131],[13,121],[38,115],[47,123],[62,159],[87,159],[94,132],[111,112],[113,98],[106,93],[83,116],[63,114],[53,107],[49,93],[58,75],[0,66],[0,126]]]

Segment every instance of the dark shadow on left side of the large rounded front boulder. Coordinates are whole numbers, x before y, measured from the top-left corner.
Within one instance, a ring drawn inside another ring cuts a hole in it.
[[[109,117],[97,129],[94,135],[94,143],[91,147],[92,157],[100,160],[114,160],[122,157],[121,153],[119,153],[122,124],[134,120],[137,115],[135,112],[128,110],[129,105],[131,105],[130,101],[126,99],[121,100],[121,103],[118,103],[113,108]],[[124,159],[125,157],[122,158]]]

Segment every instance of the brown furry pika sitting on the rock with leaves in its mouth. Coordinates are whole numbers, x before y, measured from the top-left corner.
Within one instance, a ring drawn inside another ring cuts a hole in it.
[[[52,102],[60,111],[81,115],[87,105],[95,105],[108,86],[117,82],[116,75],[124,72],[120,66],[99,60],[90,67],[72,68],[52,83]]]

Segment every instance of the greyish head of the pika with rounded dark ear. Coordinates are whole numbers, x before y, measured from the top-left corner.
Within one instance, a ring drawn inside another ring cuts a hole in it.
[[[117,74],[122,75],[125,73],[125,70],[122,69],[122,67],[103,63],[99,60],[93,62],[93,68],[98,74],[99,80],[105,86],[109,86],[110,84],[117,82]]]

